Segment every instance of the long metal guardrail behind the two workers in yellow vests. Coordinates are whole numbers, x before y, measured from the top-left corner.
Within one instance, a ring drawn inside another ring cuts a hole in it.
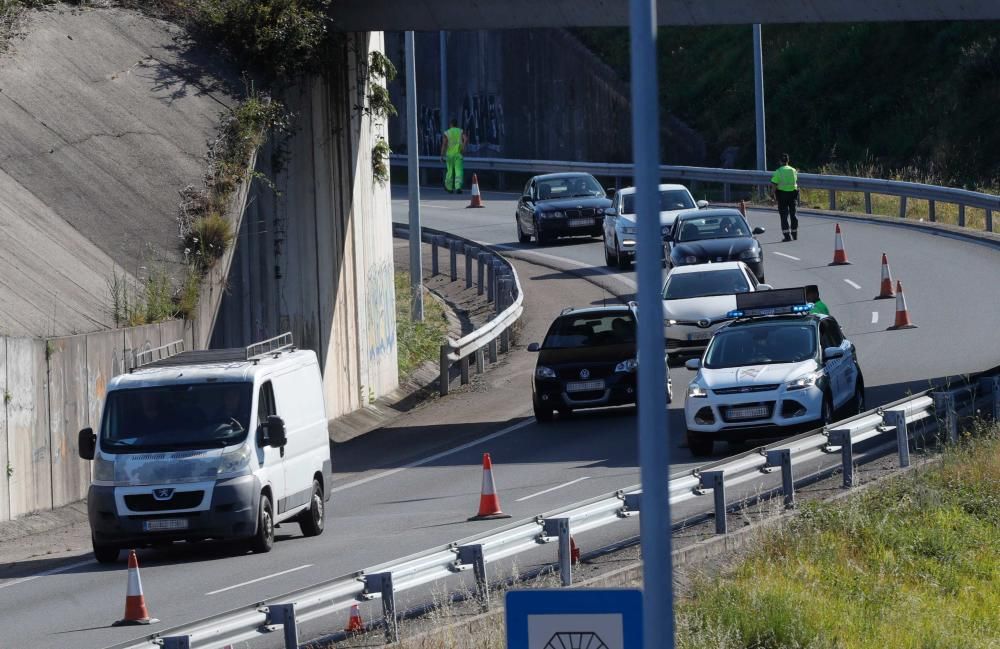
[[[405,165],[406,156],[393,154],[390,156],[393,165]],[[421,157],[421,168],[439,169],[444,163],[439,158]],[[515,160],[511,158],[466,158],[465,168],[477,172],[495,171],[498,173],[528,173],[544,174],[560,171],[583,171],[595,176],[606,176],[616,179],[630,178],[633,175],[631,163],[611,162],[573,162],[563,160]],[[709,167],[684,167],[662,165],[660,176],[664,179],[688,180],[717,183],[723,186],[725,200],[731,200],[731,188],[736,186],[768,187],[771,184],[771,172],[750,171],[745,169],[714,169]],[[865,196],[865,212],[872,213],[872,194],[900,197],[899,216],[906,214],[907,199],[926,200],[929,206],[929,218],[936,220],[937,203],[953,203],[958,205],[958,225],[966,227],[965,208],[975,207],[986,212],[985,230],[993,231],[993,212],[1000,210],[1000,196],[974,192],[967,189],[939,187],[923,183],[911,183],[899,180],[881,180],[878,178],[855,178],[852,176],[827,176],[824,174],[799,174],[799,186],[806,189],[825,189],[829,192],[829,206],[837,209],[837,193],[853,192]]]

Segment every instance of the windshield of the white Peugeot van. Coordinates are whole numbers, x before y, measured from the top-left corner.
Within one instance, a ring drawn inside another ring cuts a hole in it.
[[[101,449],[109,453],[221,448],[246,439],[253,384],[191,383],[108,394]]]

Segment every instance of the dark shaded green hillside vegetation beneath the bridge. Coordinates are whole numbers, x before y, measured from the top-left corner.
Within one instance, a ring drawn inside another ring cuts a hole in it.
[[[996,23],[765,25],[768,164],[879,166],[914,178],[994,186],[1000,175]],[[578,36],[628,78],[628,34]],[[754,164],[749,26],[665,28],[661,106],[701,132],[705,164],[739,148]],[[665,143],[669,146],[669,143]]]

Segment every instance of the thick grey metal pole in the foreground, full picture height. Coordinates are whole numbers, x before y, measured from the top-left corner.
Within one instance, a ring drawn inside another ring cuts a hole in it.
[[[671,439],[664,403],[663,312],[660,309],[660,118],[656,77],[656,1],[629,0],[632,152],[639,227],[639,458],[642,477],[643,646],[673,649],[674,592],[667,472]]]

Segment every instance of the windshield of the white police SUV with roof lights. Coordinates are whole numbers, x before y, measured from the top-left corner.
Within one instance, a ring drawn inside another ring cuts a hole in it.
[[[816,357],[811,322],[774,322],[729,327],[716,332],[705,352],[705,367],[800,363]]]

